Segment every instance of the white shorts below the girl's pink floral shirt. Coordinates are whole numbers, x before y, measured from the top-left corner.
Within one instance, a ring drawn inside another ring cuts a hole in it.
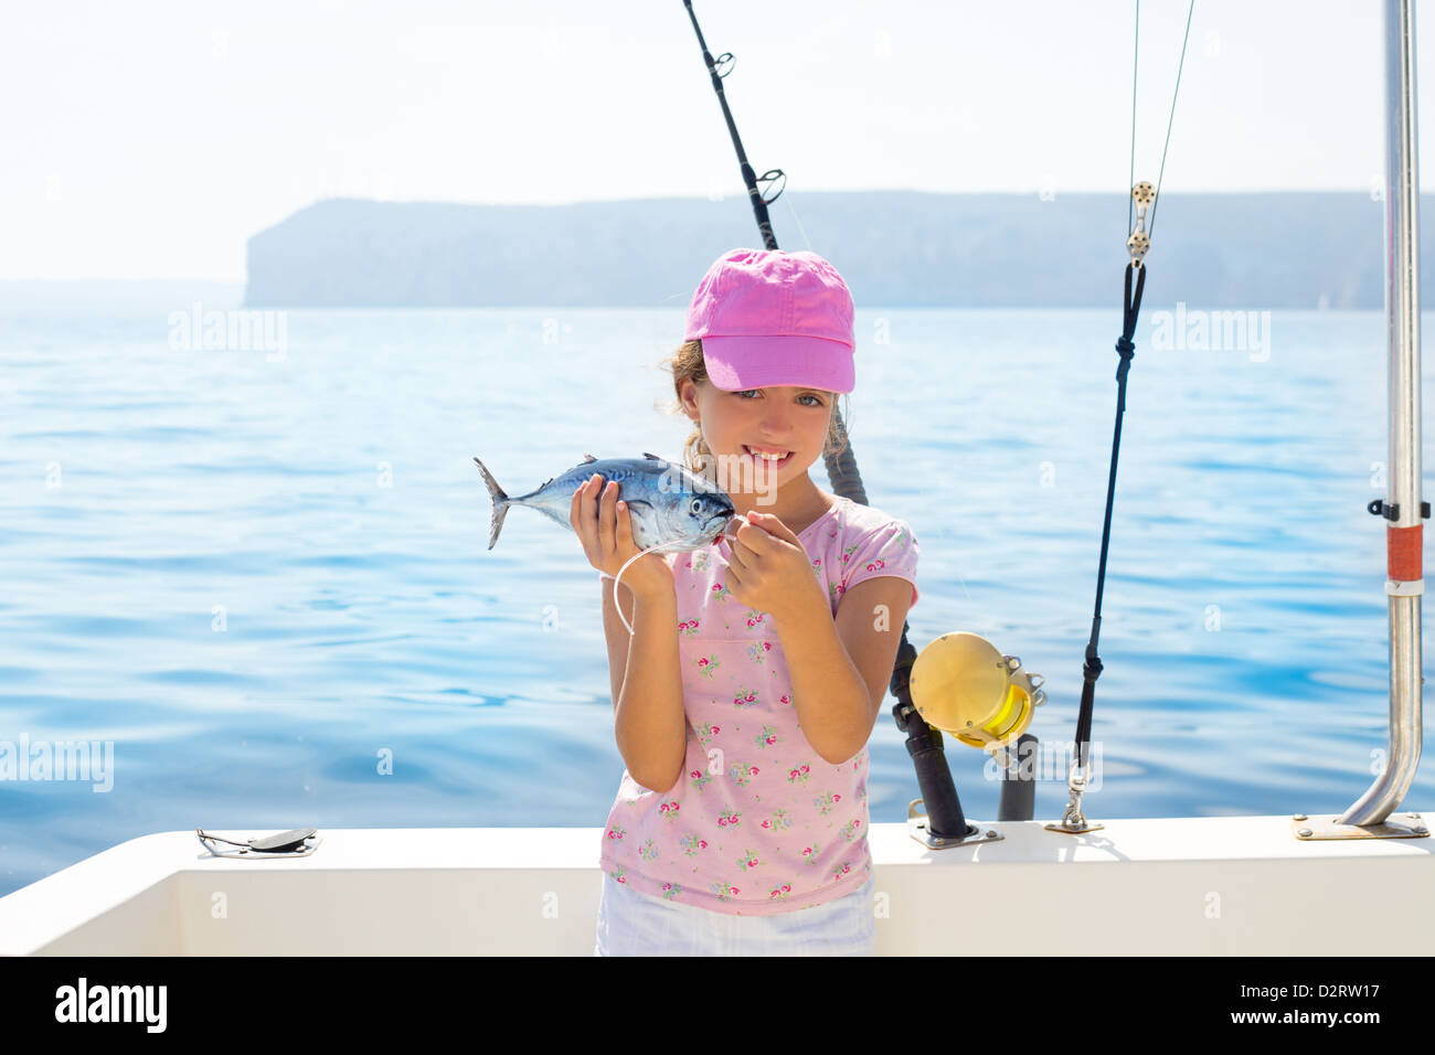
[[[875,956],[877,876],[834,901],[733,916],[669,901],[603,874],[594,956]]]

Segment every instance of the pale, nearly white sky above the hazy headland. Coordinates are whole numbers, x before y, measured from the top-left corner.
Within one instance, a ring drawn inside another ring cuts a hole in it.
[[[1134,0],[695,10],[738,56],[749,159],[788,172],[799,217],[805,191],[1126,194]],[[1380,11],[1197,0],[1164,189],[1369,191]],[[1185,13],[1141,4],[1138,179]],[[1424,86],[1435,9],[1418,16]],[[682,0],[11,4],[0,98],[0,278],[243,281],[245,240],[326,197],[748,208]]]

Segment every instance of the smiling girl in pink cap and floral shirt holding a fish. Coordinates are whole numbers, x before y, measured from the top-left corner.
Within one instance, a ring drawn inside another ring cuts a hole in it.
[[[627,764],[596,953],[870,956],[865,745],[917,603],[918,547],[901,520],[808,477],[854,388],[852,299],[814,253],[732,250],[699,284],[684,342],[684,461],[740,525],[634,561],[630,636],[611,599],[639,553],[618,485],[594,475],[573,501],[601,573]]]

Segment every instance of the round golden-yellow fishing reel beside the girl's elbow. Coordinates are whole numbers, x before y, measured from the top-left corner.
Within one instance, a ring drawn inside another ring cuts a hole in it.
[[[1006,769],[1046,693],[1040,675],[1022,669],[980,634],[953,632],[931,642],[911,665],[911,702],[923,721],[963,744],[992,752]]]

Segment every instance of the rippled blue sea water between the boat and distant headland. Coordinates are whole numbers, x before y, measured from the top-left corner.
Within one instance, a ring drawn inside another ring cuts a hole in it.
[[[1148,303],[1137,333],[1086,812],[1336,812],[1386,748],[1383,314],[1271,311],[1233,347],[1182,310]],[[677,458],[659,359],[682,307],[291,310],[248,334],[189,311],[0,319],[0,742],[113,752],[105,791],[0,781],[0,893],[168,830],[600,827],[623,762],[597,574],[530,510],[489,551],[472,458],[511,494],[585,452]],[[857,316],[844,409],[870,502],[921,547],[910,639],[976,632],[1046,677],[1043,818],[1066,802],[1119,323]],[[891,703],[872,822],[918,797]],[[994,820],[986,756],[947,756]],[[1406,808],[1435,808],[1431,772]]]

